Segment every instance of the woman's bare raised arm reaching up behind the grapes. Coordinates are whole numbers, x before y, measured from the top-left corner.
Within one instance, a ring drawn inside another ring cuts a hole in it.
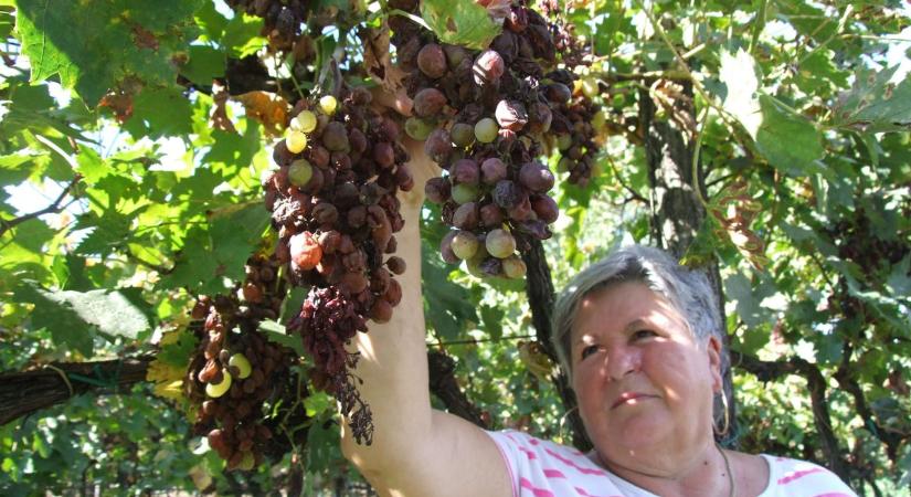
[[[343,423],[342,452],[383,495],[509,496],[508,470],[492,440],[455,415],[431,409],[424,308],[421,293],[421,205],[435,166],[411,142],[415,187],[400,194],[405,225],[396,255],[407,263],[399,276],[402,302],[385,324],[370,322],[352,347],[361,398],[373,414],[372,445],[358,445]],[[433,254],[428,254],[433,256]]]

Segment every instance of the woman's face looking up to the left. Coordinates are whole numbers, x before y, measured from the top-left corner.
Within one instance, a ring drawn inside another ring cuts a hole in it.
[[[661,457],[710,442],[719,350],[714,337],[697,343],[684,317],[644,283],[583,299],[571,335],[572,382],[602,459],[658,470]]]

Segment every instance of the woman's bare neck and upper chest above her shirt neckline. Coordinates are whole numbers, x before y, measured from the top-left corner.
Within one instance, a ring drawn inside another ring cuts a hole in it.
[[[622,463],[594,454],[598,464],[616,476],[663,497],[729,497],[733,488],[732,467],[713,441],[688,454],[646,455],[639,451]]]

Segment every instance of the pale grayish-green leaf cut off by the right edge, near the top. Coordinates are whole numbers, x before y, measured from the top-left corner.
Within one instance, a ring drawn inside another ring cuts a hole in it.
[[[833,106],[831,125],[865,134],[911,129],[911,81],[890,82],[898,70],[859,71]]]

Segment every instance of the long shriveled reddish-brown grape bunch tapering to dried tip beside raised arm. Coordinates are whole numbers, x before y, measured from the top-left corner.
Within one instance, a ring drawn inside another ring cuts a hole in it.
[[[333,393],[356,440],[371,443],[370,409],[349,372],[345,346],[367,320],[385,322],[402,298],[405,271],[394,233],[404,224],[396,192],[414,186],[395,120],[370,107],[366,88],[297,103],[273,149],[278,169],[263,181],[278,232],[275,255],[293,284],[308,287],[288,324],[315,362],[314,382]]]

